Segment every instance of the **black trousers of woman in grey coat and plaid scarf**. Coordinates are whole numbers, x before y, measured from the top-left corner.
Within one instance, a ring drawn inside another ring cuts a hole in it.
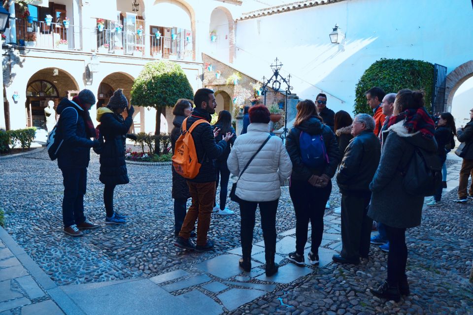
[[[384,225],[389,240],[388,283],[390,285],[398,285],[405,278],[405,265],[407,263],[405,228]]]

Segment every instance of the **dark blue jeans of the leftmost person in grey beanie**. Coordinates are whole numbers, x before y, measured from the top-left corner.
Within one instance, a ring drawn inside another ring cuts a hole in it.
[[[87,168],[64,168],[63,223],[64,227],[85,221],[84,195],[87,188]]]

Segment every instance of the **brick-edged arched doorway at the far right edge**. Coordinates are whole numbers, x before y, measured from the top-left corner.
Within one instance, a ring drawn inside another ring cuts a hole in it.
[[[472,97],[473,60],[456,67],[445,80],[445,109],[455,117],[457,127],[464,126],[470,121]]]

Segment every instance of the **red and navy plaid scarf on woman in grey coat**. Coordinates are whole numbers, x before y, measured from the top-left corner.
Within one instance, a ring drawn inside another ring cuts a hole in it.
[[[391,116],[388,121],[388,128],[401,121],[408,132],[420,131],[422,136],[432,138],[435,132],[435,124],[425,107],[417,109],[406,109],[396,116]]]

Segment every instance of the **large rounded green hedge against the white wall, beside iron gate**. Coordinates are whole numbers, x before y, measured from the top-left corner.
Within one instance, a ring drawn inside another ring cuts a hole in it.
[[[425,107],[430,111],[434,65],[411,59],[381,59],[373,63],[358,81],[355,89],[355,114],[372,114],[366,103],[365,92],[372,87],[380,87],[386,93],[397,93],[402,89],[425,92]]]

